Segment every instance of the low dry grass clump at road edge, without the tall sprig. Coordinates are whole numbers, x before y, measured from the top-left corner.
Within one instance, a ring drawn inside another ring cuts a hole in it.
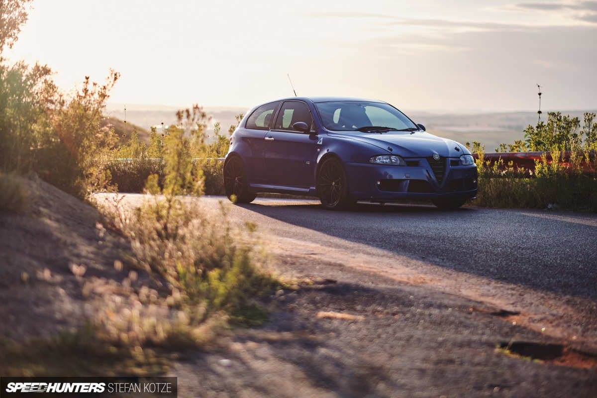
[[[101,326],[103,338],[186,347],[207,343],[220,326],[263,323],[267,313],[255,300],[280,283],[258,265],[264,257],[254,249],[255,227],[235,229],[224,207],[219,217],[206,217],[183,200],[176,200],[166,225],[166,206],[165,198],[155,196],[136,209],[118,202],[104,209],[110,228],[131,242],[127,261],[162,288],[131,288],[136,273],[112,287],[117,295],[97,295],[104,287],[85,286],[84,294],[99,298],[93,323]]]

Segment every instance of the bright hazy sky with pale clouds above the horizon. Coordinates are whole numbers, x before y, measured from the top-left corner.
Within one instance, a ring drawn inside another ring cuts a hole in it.
[[[402,110],[597,108],[597,1],[33,1],[11,61],[124,104],[253,107],[294,95]]]

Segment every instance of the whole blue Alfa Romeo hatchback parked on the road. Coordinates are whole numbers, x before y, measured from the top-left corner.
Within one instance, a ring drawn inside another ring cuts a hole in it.
[[[477,192],[469,150],[425,132],[383,101],[294,97],[255,107],[230,138],[226,195],[315,196],[327,209],[358,200],[432,200],[456,208]]]

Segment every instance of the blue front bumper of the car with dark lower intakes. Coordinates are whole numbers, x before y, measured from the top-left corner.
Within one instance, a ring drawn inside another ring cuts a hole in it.
[[[438,181],[424,162],[420,166],[344,163],[353,200],[469,199],[477,194],[475,165],[446,166]]]

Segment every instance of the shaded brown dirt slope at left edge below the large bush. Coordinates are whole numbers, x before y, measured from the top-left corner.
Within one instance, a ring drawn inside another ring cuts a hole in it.
[[[128,273],[113,266],[126,243],[97,224],[96,209],[36,178],[23,181],[34,198],[29,212],[0,212],[0,337],[14,340],[77,328],[88,316],[85,283]]]

